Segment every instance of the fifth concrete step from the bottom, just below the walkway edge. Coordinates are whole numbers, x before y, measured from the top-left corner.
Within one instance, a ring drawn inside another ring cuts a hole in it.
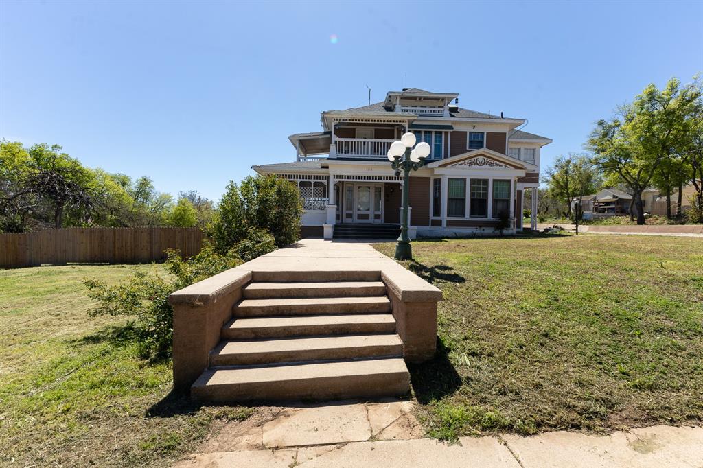
[[[384,296],[385,294],[386,285],[380,281],[252,282],[243,290],[245,299],[362,297]]]

